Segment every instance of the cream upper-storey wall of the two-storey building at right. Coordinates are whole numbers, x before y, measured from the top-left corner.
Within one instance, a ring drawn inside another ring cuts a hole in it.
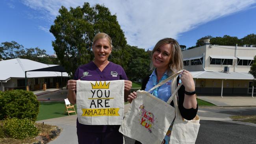
[[[217,56],[232,56],[232,57],[254,57],[256,55],[256,48],[253,47],[243,47],[237,46],[237,52],[235,50],[236,46],[214,46],[205,45],[198,48],[193,48],[191,50],[186,50],[182,52],[183,59],[204,56],[204,66],[206,70],[212,71],[223,71],[224,66],[229,66],[230,72],[249,72],[250,66],[237,65],[237,59],[233,59],[233,65],[210,65],[210,55]],[[236,66],[236,68],[235,68]],[[184,66],[185,69],[190,71],[202,71],[202,65],[191,65],[191,60],[189,60],[189,66]]]

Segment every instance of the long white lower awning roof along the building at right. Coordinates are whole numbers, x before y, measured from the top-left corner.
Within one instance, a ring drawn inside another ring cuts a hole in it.
[[[193,78],[199,79],[249,79],[252,80],[254,77],[247,72],[208,72],[208,71],[197,71],[191,72]]]

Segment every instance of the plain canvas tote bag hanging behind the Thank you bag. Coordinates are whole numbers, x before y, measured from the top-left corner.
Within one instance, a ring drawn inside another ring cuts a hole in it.
[[[177,87],[173,85],[172,90]],[[173,123],[169,144],[195,144],[199,131],[200,117],[196,115],[193,120],[182,118],[178,108],[177,97],[173,98],[176,117]]]

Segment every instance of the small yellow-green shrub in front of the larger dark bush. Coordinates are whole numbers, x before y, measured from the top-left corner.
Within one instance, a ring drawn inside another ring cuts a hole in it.
[[[24,139],[35,137],[38,134],[35,122],[28,119],[7,118],[4,120],[3,128],[11,138]]]

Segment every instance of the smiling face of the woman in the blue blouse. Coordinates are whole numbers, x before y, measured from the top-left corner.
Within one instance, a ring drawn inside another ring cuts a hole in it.
[[[158,68],[167,70],[171,60],[171,44],[163,44],[152,55],[152,64]]]

